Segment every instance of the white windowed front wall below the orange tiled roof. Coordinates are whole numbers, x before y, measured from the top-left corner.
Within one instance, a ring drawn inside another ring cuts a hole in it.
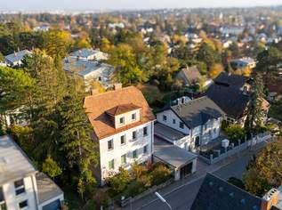
[[[147,135],[144,133],[144,129],[147,129]],[[134,132],[136,132],[135,139],[133,139]],[[154,123],[149,122],[99,140],[101,184],[110,174],[117,173],[120,166],[130,170],[134,161],[139,164],[151,161],[154,150],[153,133]],[[124,143],[121,141],[121,138],[124,137],[121,136],[125,136]],[[112,149],[109,149],[109,141],[112,141]],[[145,147],[146,149],[144,149]],[[134,151],[136,151],[136,157],[133,157]],[[122,163],[123,156],[125,156],[124,163]],[[114,162],[113,167],[110,166],[111,161]]]

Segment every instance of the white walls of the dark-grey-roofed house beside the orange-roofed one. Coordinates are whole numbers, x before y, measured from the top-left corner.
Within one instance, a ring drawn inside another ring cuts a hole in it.
[[[184,138],[172,142],[182,149],[191,150],[214,140],[220,135],[222,117],[210,119],[205,125],[189,128],[171,109],[167,109],[157,114],[157,122],[186,134]]]

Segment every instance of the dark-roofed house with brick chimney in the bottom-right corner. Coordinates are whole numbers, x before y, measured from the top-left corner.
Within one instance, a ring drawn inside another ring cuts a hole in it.
[[[271,189],[262,198],[239,189],[214,174],[206,174],[190,210],[279,210],[282,188]]]

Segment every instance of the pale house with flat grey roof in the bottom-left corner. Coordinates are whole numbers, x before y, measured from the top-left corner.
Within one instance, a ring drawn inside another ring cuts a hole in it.
[[[9,136],[0,137],[0,209],[56,210],[63,192]]]

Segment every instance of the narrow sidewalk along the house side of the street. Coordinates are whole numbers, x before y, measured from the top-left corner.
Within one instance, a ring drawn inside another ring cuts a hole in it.
[[[197,182],[200,179],[203,179],[206,173],[214,173],[219,169],[221,169],[222,167],[230,165],[238,158],[253,156],[259,150],[261,150],[266,144],[267,142],[262,141],[261,143],[255,145],[253,148],[239,152],[238,154],[231,156],[230,158],[226,158],[218,163],[215,163],[214,165],[207,165],[205,162],[203,162],[201,159],[198,158],[197,172],[195,174],[192,174],[186,177],[185,179],[182,179],[181,181],[173,182],[172,184],[166,186],[164,189],[159,190],[158,192],[165,197],[166,195],[172,193],[173,191],[180,190],[184,186],[187,186],[193,182]],[[132,209],[134,210],[141,209],[142,207],[149,206],[155,201],[157,201],[157,198],[154,193],[151,193],[148,196],[133,202]],[[125,206],[124,209],[130,210],[131,206]]]

